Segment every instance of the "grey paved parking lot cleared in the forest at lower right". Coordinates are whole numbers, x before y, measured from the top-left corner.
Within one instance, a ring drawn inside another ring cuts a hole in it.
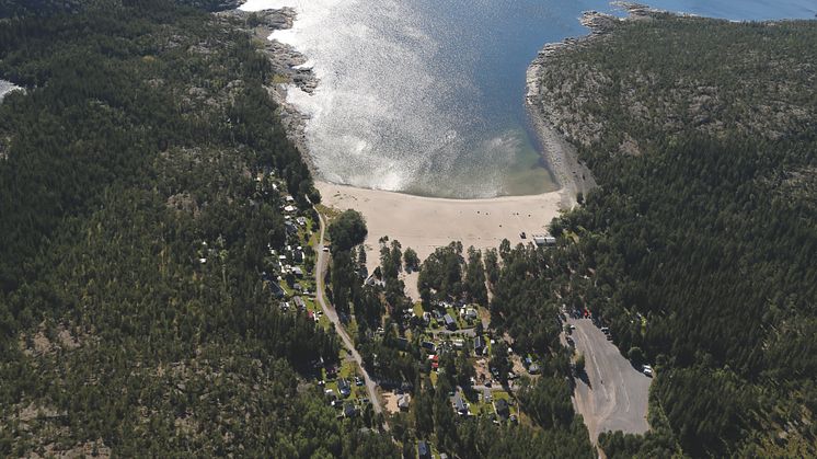
[[[618,347],[589,319],[568,319],[576,325],[573,340],[585,355],[587,379],[576,380],[574,402],[595,444],[607,431],[643,434],[647,425],[647,398],[652,378],[630,365]]]

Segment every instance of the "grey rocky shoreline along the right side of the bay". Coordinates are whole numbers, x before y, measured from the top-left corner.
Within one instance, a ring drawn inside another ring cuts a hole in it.
[[[548,89],[540,84],[542,72],[554,56],[565,53],[576,46],[600,39],[621,21],[646,19],[654,10],[636,3],[614,3],[629,12],[629,16],[620,19],[610,14],[588,11],[583,14],[582,25],[590,28],[590,33],[580,38],[566,38],[560,43],[546,44],[527,71],[528,91],[525,97],[526,107],[531,123],[542,144],[543,156],[563,191],[563,206],[571,207],[578,193],[587,194],[597,186],[590,170],[578,159],[576,146],[568,140],[567,133],[560,131],[556,126],[563,119],[559,118],[559,111],[553,106],[553,97]]]

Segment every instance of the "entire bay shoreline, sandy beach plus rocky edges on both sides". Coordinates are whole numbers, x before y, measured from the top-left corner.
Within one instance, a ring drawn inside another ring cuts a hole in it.
[[[250,12],[234,10],[240,19],[249,18]],[[412,248],[425,260],[437,248],[460,241],[464,248],[497,248],[504,239],[511,245],[532,243],[532,234],[548,233],[548,226],[562,211],[573,208],[577,194],[586,194],[596,186],[590,171],[578,161],[576,148],[556,131],[541,103],[538,84],[539,71],[546,65],[550,50],[569,46],[577,39],[562,44],[545,45],[537,59],[528,68],[528,92],[526,106],[540,141],[541,154],[548,162],[560,186],[559,190],[538,195],[511,195],[490,198],[457,199],[418,196],[400,192],[358,188],[321,180],[310,158],[304,128],[307,115],[301,114],[287,102],[288,84],[312,92],[318,80],[309,68],[302,68],[307,57],[291,46],[269,39],[276,30],[289,28],[297,12],[291,9],[266,10],[254,13],[262,21],[249,30],[256,38],[264,39],[264,51],[273,64],[276,76],[287,84],[273,84],[269,92],[279,105],[279,116],[285,124],[290,140],[301,151],[304,162],[315,177],[315,187],[322,195],[322,204],[337,210],[355,209],[367,221],[369,234],[365,241],[367,265],[373,272],[380,260],[379,240],[388,237],[399,240],[403,246]],[[586,24],[587,25],[587,24]],[[591,28],[592,31],[592,28]],[[592,32],[595,33],[595,32]],[[591,35],[592,35],[591,33]],[[582,38],[585,39],[585,38]],[[525,238],[522,238],[525,236]],[[406,292],[415,300],[419,298],[416,287],[416,273],[403,273]]]

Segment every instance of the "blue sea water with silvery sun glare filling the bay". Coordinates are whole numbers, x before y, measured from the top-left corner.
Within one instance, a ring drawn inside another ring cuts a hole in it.
[[[654,0],[734,20],[814,18],[814,0]],[[320,82],[288,101],[309,115],[309,154],[334,183],[445,197],[557,188],[525,110],[526,69],[545,43],[587,33],[599,0],[250,0],[291,7],[272,38],[309,59]]]

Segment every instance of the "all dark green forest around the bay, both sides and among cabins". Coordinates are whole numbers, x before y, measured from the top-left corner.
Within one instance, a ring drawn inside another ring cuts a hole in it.
[[[656,369],[607,457],[817,456],[817,25],[651,13],[554,54],[541,96],[599,183],[555,246],[383,238],[368,273],[361,216],[319,206],[326,296],[411,398],[386,432],[329,403],[345,353],[289,307],[320,194],[231,3],[0,0],[0,456],[590,458],[583,308]]]

